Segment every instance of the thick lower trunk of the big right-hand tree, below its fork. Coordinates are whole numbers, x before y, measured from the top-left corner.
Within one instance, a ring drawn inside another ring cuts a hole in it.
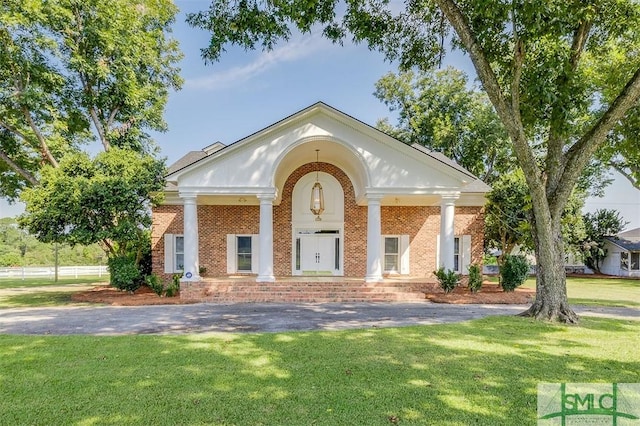
[[[537,320],[576,324],[579,321],[578,315],[573,312],[567,300],[560,217],[547,216],[548,220],[536,220],[536,210],[539,209],[534,208],[532,227],[535,229],[533,240],[537,262],[536,300],[520,315]]]

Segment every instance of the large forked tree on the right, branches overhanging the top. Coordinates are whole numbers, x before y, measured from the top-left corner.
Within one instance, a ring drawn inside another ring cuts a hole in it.
[[[340,11],[340,16],[337,11]],[[632,0],[261,2],[220,0],[188,22],[211,32],[216,60],[227,43],[271,48],[290,27],[315,24],[430,69],[451,40],[470,57],[512,143],[531,194],[536,299],[523,313],[577,322],[567,301],[561,218],[584,168],[608,134],[638,108],[640,4]]]

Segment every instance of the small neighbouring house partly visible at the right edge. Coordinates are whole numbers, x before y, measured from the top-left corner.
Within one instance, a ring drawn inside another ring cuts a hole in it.
[[[604,238],[607,257],[600,271],[620,277],[640,277],[640,228]]]

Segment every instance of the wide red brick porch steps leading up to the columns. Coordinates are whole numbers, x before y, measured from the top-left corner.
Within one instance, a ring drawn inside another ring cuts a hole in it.
[[[424,301],[437,284],[393,281],[363,282],[237,282],[182,283],[180,297],[216,303],[247,302],[411,302]]]

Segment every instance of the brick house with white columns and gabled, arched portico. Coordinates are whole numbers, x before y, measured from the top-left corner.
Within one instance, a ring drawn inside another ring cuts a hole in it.
[[[212,277],[433,282],[438,266],[466,274],[481,263],[489,189],[441,154],[316,103],[169,168],[153,270],[182,274],[183,289]]]

